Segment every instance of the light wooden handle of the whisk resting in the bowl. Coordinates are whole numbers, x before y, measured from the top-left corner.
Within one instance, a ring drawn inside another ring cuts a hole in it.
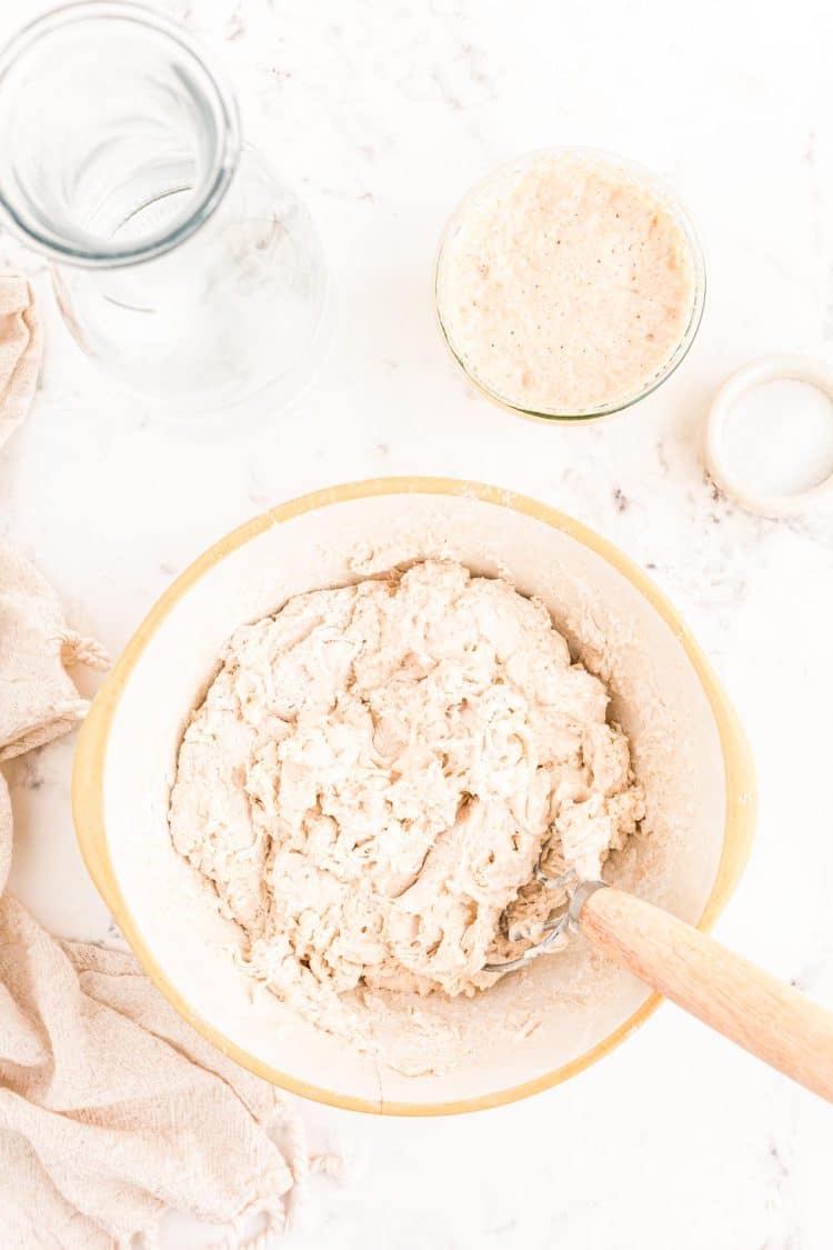
[[[698,929],[611,886],[576,898],[584,936],[621,968],[833,1102],[833,1015]]]

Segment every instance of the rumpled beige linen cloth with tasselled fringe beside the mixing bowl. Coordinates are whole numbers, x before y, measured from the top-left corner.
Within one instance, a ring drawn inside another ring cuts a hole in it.
[[[2,430],[0,401],[0,441]],[[0,544],[0,760],[84,716],[66,671],[76,661],[107,662],[67,628],[29,561]],[[0,895],[11,834],[0,772]],[[227,1248],[264,1212],[250,1245],[265,1250],[310,1171],[338,1165],[310,1159],[277,1090],[180,1020],[131,955],[57,941],[0,898],[2,1250],[105,1250],[136,1234],[151,1245],[167,1210],[225,1225],[217,1245]]]

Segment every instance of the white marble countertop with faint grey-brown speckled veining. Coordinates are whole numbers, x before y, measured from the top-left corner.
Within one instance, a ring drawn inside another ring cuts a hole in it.
[[[34,10],[6,0],[5,36]],[[2,532],[114,652],[171,578],[280,500],[433,472],[536,495],[651,570],[736,700],[757,760],[758,839],[718,926],[833,1004],[829,804],[833,515],[773,522],[704,478],[702,418],[771,350],[833,351],[833,24],[823,0],[167,0],[215,42],[247,131],[303,191],[340,298],[307,399],[254,435],[172,436],[122,400],[47,308],[41,388],[0,455]],[[466,185],[550,142],[622,151],[679,188],[709,295],[688,360],[617,420],[564,430],[476,396],[442,350],[430,275]],[[0,240],[0,261],[20,250]],[[106,939],[75,849],[62,741],[9,770],[11,890],[55,931]],[[287,1250],[829,1250],[829,1108],[672,1006],[531,1100],[447,1120],[313,1104],[356,1160],[321,1181]],[[199,1245],[181,1232],[177,1245]]]

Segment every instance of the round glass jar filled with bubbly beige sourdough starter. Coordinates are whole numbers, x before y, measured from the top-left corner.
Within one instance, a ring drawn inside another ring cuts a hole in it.
[[[437,316],[490,399],[523,416],[608,416],[694,341],[706,268],[676,196],[609,152],[553,148],[487,174],[446,226]]]

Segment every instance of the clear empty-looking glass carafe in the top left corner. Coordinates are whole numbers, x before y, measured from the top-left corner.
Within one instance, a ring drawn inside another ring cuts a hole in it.
[[[181,29],[71,4],[0,54],[0,211],[51,261],[87,356],[151,406],[211,415],[308,380],[325,275],[307,209],[241,142]]]

